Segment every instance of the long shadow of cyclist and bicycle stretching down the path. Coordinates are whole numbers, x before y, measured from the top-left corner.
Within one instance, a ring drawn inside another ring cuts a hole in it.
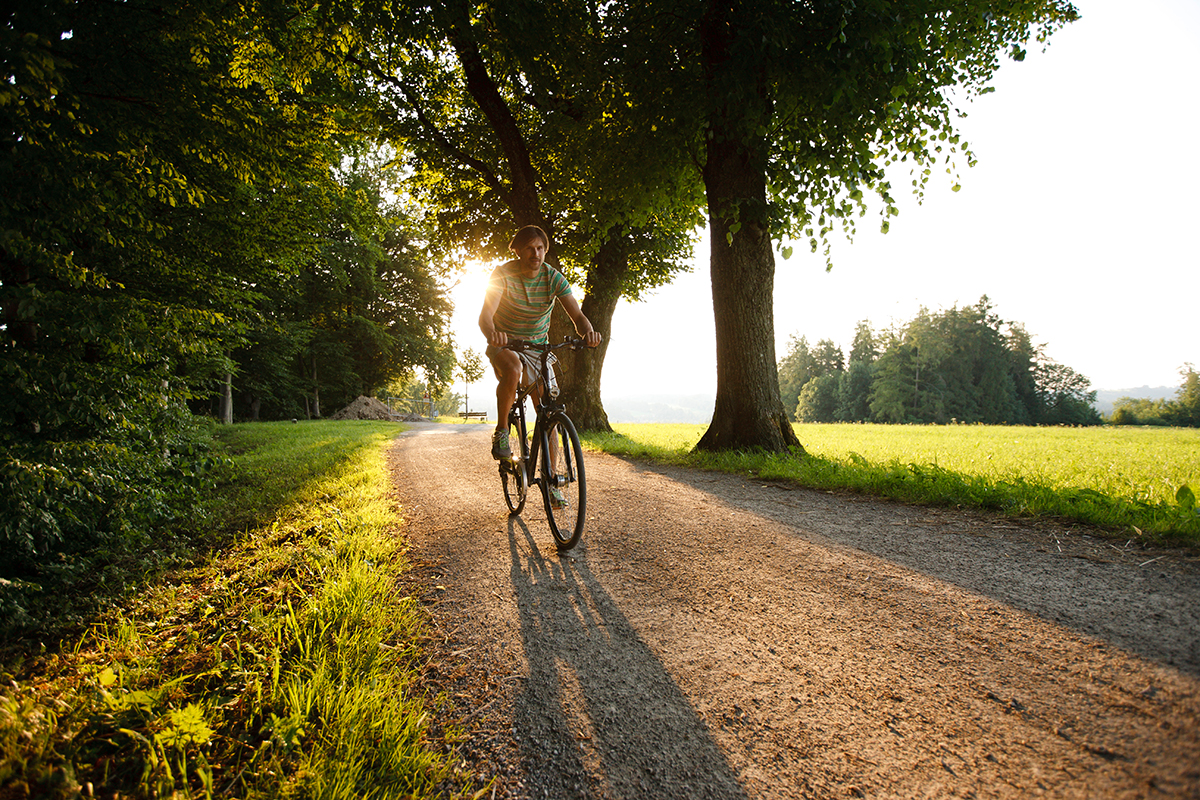
[[[745,798],[703,721],[588,569],[509,517],[529,678],[514,734],[532,795]]]

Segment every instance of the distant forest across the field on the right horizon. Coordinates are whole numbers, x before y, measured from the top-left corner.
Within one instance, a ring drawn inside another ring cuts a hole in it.
[[[1122,398],[1117,425],[1200,425],[1200,385],[1184,365],[1175,399]],[[792,337],[779,362],[784,407],[798,422],[1100,425],[1091,381],[1050,359],[985,296],[898,329],[864,320],[850,353]]]

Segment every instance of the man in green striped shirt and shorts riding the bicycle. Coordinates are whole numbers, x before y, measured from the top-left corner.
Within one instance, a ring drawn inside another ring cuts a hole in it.
[[[571,284],[563,273],[545,263],[550,237],[538,225],[526,225],[509,243],[516,258],[500,264],[487,281],[484,309],[479,314],[479,330],[487,337],[487,357],[496,371],[496,432],[492,434],[492,458],[511,457],[509,451],[509,408],[517,387],[538,379],[536,366],[522,361],[521,355],[503,349],[509,337],[545,343],[550,335],[550,315],[554,301],[575,324],[575,332],[588,347],[600,344],[600,333],[583,315],[578,301],[571,294]],[[553,372],[547,365],[547,369]],[[547,385],[553,375],[547,377]],[[534,403],[539,391],[534,390]],[[553,438],[551,438],[553,441]]]

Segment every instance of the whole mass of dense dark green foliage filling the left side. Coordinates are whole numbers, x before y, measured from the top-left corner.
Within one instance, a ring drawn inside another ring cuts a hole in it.
[[[329,56],[344,20],[218,0],[2,20],[0,613],[20,614],[190,512],[214,459],[187,403],[214,386],[284,414],[324,373],[337,397],[449,365],[419,236],[342,167],[373,120]]]

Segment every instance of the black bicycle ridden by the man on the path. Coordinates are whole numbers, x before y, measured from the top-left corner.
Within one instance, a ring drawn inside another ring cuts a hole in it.
[[[550,354],[563,348],[580,350],[584,348],[583,339],[566,337],[562,344],[542,344],[524,339],[511,339],[504,345],[506,350],[522,353],[536,350],[541,354],[541,371],[538,379],[524,389],[518,389],[512,408],[509,409],[509,450],[512,453],[508,461],[500,461],[500,483],[504,487],[504,501],[512,513],[521,513],[528,498],[530,485],[541,488],[542,503],[546,506],[546,521],[554,545],[559,551],[575,547],[583,535],[583,515],[587,509],[588,488],[583,473],[583,449],[580,446],[580,434],[575,423],[566,416],[566,407],[559,402],[557,390],[547,390],[546,371]],[[526,429],[526,398],[536,386],[542,386],[535,404],[533,439]],[[558,446],[552,449],[553,444]],[[557,452],[552,453],[552,450]],[[540,457],[540,467],[539,467]],[[564,500],[560,505],[554,497],[557,489]]]

